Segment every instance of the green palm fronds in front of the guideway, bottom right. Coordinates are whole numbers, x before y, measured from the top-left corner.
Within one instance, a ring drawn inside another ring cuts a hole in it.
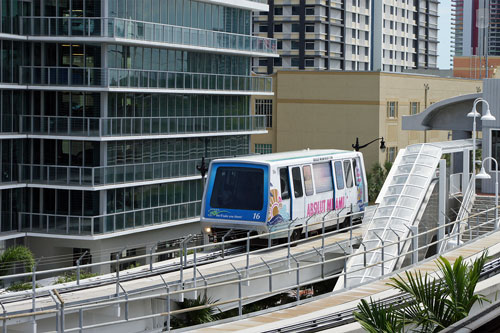
[[[387,307],[362,300],[354,316],[368,332],[403,332],[408,325],[415,331],[438,332],[467,317],[476,302],[489,302],[483,295],[474,294],[487,259],[485,252],[472,265],[465,263],[462,257],[451,265],[440,257],[439,278],[421,272],[405,272],[404,277],[391,278],[388,285],[409,294],[411,301],[399,307]]]

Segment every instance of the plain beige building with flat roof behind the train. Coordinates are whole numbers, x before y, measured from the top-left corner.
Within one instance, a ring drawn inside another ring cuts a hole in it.
[[[305,148],[362,149],[370,167],[392,161],[399,149],[418,142],[451,139],[447,131],[403,131],[403,115],[422,112],[440,100],[481,91],[482,82],[430,75],[381,72],[278,71],[275,95],[252,97],[256,114],[267,115],[268,133],[253,135],[251,149],[270,153]]]

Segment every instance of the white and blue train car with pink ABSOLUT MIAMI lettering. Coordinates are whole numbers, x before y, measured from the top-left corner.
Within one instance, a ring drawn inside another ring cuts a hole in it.
[[[304,230],[306,221],[320,221],[331,211],[340,216],[364,211],[366,184],[363,155],[355,151],[302,150],[215,160],[203,193],[202,230],[209,236],[230,229],[262,234],[285,230],[291,221]],[[322,227],[312,225],[310,231]],[[298,236],[300,231],[293,235]]]

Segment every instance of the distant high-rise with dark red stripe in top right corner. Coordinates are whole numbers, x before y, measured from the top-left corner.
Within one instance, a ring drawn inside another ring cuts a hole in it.
[[[453,0],[454,56],[500,56],[500,0]]]

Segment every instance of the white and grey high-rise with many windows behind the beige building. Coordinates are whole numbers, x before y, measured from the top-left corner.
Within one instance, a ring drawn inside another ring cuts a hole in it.
[[[435,68],[437,0],[270,0],[254,29],[276,38],[280,58],[254,59],[254,70]]]

